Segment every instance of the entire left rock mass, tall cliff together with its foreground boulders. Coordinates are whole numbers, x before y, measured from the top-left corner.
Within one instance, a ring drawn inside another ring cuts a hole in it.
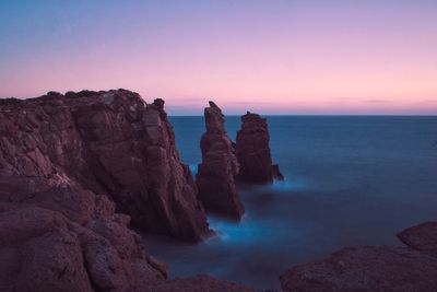
[[[125,90],[0,100],[0,291],[251,291],[167,282],[116,212],[186,240],[209,233],[163,105]]]

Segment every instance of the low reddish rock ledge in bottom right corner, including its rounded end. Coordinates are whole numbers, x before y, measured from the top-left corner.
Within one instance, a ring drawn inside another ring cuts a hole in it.
[[[285,291],[435,291],[437,223],[402,231],[409,247],[347,247],[281,276]]]

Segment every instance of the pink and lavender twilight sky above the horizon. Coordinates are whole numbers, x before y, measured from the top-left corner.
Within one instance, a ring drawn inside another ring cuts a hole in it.
[[[437,114],[436,0],[0,0],[0,96],[139,92],[170,115]]]

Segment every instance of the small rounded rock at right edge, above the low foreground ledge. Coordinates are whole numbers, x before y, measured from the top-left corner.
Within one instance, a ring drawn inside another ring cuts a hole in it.
[[[398,237],[413,249],[437,255],[437,222],[425,222],[403,230]]]

